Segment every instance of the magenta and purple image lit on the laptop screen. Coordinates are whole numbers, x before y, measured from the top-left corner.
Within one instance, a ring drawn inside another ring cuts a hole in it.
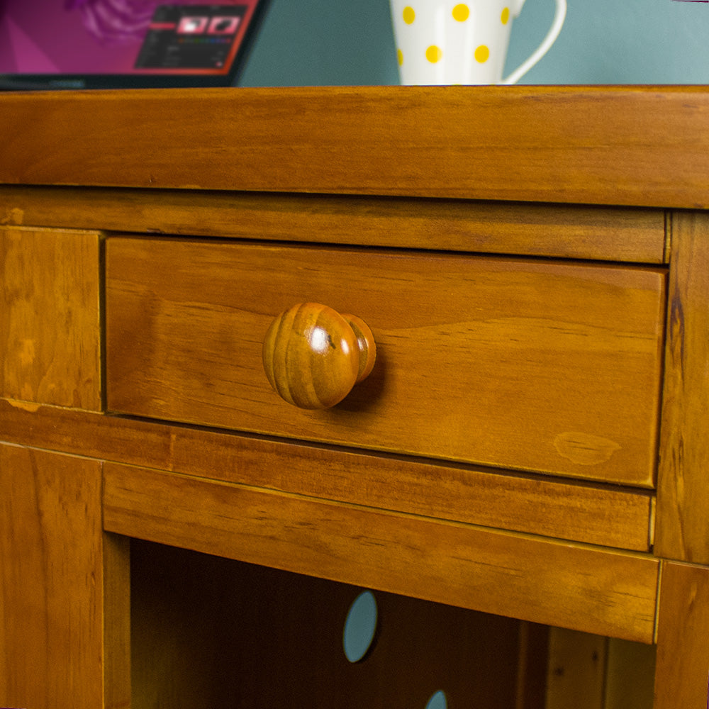
[[[257,0],[0,0],[0,74],[220,74]]]

